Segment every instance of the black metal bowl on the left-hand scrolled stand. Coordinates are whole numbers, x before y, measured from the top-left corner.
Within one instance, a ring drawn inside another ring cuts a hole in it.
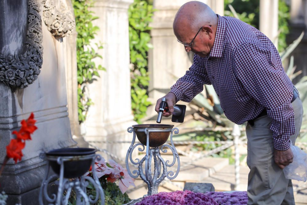
[[[62,148],[51,150],[46,156],[57,175],[60,175],[61,167],[57,159],[61,157],[64,162],[64,177],[71,179],[84,175],[90,169],[96,151],[92,148]]]

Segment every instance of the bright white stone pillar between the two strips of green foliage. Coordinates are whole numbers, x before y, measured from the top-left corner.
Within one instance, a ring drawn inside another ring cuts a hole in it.
[[[93,25],[100,28],[93,43],[103,43],[103,49],[98,51],[103,59],[96,59],[95,63],[105,67],[106,71],[99,71],[100,77],[88,85],[94,104],[90,106],[84,123],[87,141],[132,140],[132,135],[127,132],[128,127],[136,124],[131,112],[129,69],[128,6],[132,2],[97,0],[91,8],[93,15],[99,17]],[[93,144],[122,160],[125,160],[129,147],[129,143]]]

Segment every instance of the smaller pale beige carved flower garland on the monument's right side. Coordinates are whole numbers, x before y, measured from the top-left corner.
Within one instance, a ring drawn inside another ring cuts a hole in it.
[[[53,5],[52,0],[44,0],[43,16],[45,24],[55,37],[65,37],[72,33],[76,26],[75,18],[67,5],[60,0],[60,10]]]

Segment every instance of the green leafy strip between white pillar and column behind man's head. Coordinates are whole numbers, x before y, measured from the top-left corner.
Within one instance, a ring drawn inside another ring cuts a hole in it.
[[[150,26],[153,16],[152,1],[134,0],[128,10],[130,41],[131,108],[134,120],[141,124],[146,116],[149,74],[147,67],[150,44]]]

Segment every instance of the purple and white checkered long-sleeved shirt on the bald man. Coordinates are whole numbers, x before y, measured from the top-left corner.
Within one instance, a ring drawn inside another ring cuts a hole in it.
[[[277,49],[254,27],[232,17],[218,16],[214,45],[208,57],[194,55],[189,71],[172,87],[177,101],[190,102],[213,85],[225,115],[236,124],[257,117],[264,108],[272,119],[274,148],[290,148],[294,112],[293,84]]]

